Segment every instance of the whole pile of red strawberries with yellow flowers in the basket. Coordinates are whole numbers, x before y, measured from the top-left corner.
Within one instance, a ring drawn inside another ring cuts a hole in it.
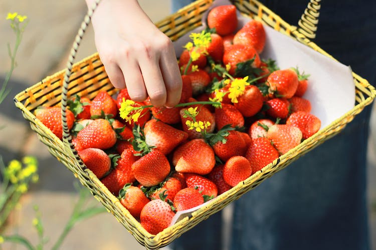
[[[237,24],[236,7],[222,5],[209,12],[211,30],[192,35],[178,60],[181,105],[134,102],[127,89],[69,102],[67,123],[85,165],[152,234],[176,211],[231,189],[320,128],[303,97],[307,76],[260,58],[261,22],[239,31]],[[62,138],[60,107],[35,115]]]

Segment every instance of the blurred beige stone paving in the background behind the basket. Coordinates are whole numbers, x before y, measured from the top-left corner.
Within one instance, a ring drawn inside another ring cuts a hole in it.
[[[139,0],[153,21],[170,13],[171,0]],[[20,205],[11,214],[4,234],[19,233],[37,243],[33,228],[34,205],[42,213],[42,221],[49,238],[46,249],[56,241],[71,215],[78,192],[73,174],[48,151],[29,123],[16,108],[13,97],[48,75],[65,68],[73,39],[87,7],[84,0],[2,0],[0,1],[0,82],[9,70],[7,43],[14,44],[15,35],[6,20],[8,12],[27,15],[29,21],[17,54],[17,67],[9,88],[10,94],[0,106],[0,155],[7,164],[11,159],[33,155],[38,159],[39,181],[22,196]],[[96,51],[94,32],[89,27],[81,43],[76,61]],[[371,116],[368,141],[368,197],[371,240],[376,250],[376,108]],[[97,202],[93,199],[93,202]],[[97,202],[98,203],[98,202]],[[50,243],[51,242],[51,243]],[[12,247],[11,245],[4,245]],[[101,213],[79,222],[67,235],[63,249],[144,249],[110,213]],[[12,249],[23,249],[13,247]]]

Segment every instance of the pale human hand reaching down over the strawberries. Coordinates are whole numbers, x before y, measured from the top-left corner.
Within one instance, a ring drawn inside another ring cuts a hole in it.
[[[94,0],[86,2],[92,7]],[[182,83],[172,41],[137,0],[102,0],[92,24],[100,59],[114,87],[126,87],[135,101],[149,96],[154,106],[179,102]]]

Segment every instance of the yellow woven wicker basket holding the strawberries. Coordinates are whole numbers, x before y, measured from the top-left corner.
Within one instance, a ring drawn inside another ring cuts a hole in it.
[[[210,7],[212,1],[213,0],[198,0],[164,18],[162,21],[156,23],[156,25],[172,40],[176,40],[186,32],[201,25],[202,15]],[[311,0],[308,3],[298,23],[299,27],[286,23],[256,0],[233,0],[232,2],[242,14],[261,20],[264,24],[290,36],[292,39],[298,40],[314,50],[331,57],[308,39],[315,36],[318,10],[320,8],[319,0]],[[86,28],[89,22],[90,18],[86,16],[82,26],[83,29]],[[82,34],[83,32],[81,30],[78,38],[76,38],[77,43],[79,43]],[[77,50],[77,46],[78,44],[75,44],[72,54]],[[149,249],[156,249],[169,244],[183,232],[189,230],[203,219],[208,218],[213,213],[223,209],[227,204],[238,199],[245,192],[256,187],[265,178],[283,169],[293,160],[338,133],[356,114],[363,110],[364,106],[370,104],[376,95],[374,87],[371,86],[367,80],[352,73],[355,83],[355,106],[353,109],[344,113],[340,118],[334,120],[326,127],[323,127],[315,135],[304,140],[288,153],[274,160],[261,171],[258,171],[229,191],[219,195],[211,202],[207,202],[206,205],[193,212],[192,216],[187,216],[173,226],[167,227],[156,235],[152,235],[120,204],[119,200],[108,191],[101,181],[85,167],[80,157],[78,157],[76,150],[71,146],[70,135],[68,134],[67,136],[67,133],[65,133],[67,138],[64,138],[63,141],[60,140],[33,115],[34,109],[40,105],[65,106],[66,98],[74,94],[93,99],[97,92],[101,90],[106,90],[109,94],[113,94],[117,91],[117,89],[113,88],[111,85],[97,53],[72,66],[73,59],[74,56],[70,58],[71,64],[68,64],[66,71],[62,70],[48,76],[41,82],[17,94],[14,99],[15,104],[22,110],[24,117],[30,121],[31,128],[38,133],[39,139],[48,146],[51,154],[66,165],[81,183],[90,189],[94,197],[97,198],[108,211],[113,213],[117,220],[124,225],[139,243]],[[69,84],[64,84],[64,82],[69,82]]]

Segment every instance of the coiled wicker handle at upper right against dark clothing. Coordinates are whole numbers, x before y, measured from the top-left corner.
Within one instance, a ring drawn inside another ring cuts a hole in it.
[[[298,31],[307,38],[315,38],[321,0],[310,0],[298,21]]]

